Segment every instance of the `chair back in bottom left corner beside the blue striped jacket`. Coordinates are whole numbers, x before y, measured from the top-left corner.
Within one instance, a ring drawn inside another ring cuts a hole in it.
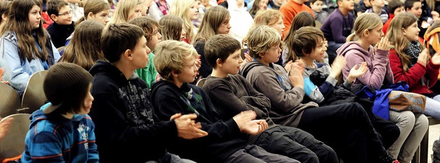
[[[5,158],[14,158],[25,150],[25,138],[29,130],[30,114],[12,114],[3,118],[14,118],[5,138],[0,140],[0,162]]]

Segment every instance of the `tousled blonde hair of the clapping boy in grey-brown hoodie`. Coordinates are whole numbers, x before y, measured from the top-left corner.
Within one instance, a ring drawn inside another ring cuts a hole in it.
[[[276,30],[267,25],[256,25],[249,29],[243,38],[243,45],[249,49],[249,55],[253,58],[261,58],[260,53],[269,51],[270,47],[281,43],[281,36]]]

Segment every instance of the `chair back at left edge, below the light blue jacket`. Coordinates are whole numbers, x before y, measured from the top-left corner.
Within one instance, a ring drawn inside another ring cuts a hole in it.
[[[0,82],[0,116],[5,117],[17,113],[21,109],[20,97],[17,91],[8,84]]]

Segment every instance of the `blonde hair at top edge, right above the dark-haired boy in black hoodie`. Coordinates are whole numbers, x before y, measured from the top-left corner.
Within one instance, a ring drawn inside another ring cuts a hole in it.
[[[109,24],[113,23],[126,23],[129,21],[130,12],[134,12],[136,10],[136,5],[141,5],[142,2],[140,0],[122,0],[119,1],[116,6],[116,10],[111,16]],[[88,13],[87,13],[88,14]]]

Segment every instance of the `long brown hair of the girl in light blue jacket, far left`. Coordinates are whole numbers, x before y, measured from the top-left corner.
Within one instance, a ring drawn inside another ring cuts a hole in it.
[[[47,49],[45,48],[47,34],[45,33],[45,29],[43,29],[43,22],[41,20],[39,27],[36,29],[32,29],[32,25],[29,22],[29,12],[34,5],[41,8],[41,3],[37,0],[12,1],[8,15],[8,23],[3,23],[0,27],[1,36],[7,32],[15,32],[19,42],[20,60],[27,59],[29,62],[36,58],[47,60]],[[35,34],[42,51],[37,47],[32,33]]]

